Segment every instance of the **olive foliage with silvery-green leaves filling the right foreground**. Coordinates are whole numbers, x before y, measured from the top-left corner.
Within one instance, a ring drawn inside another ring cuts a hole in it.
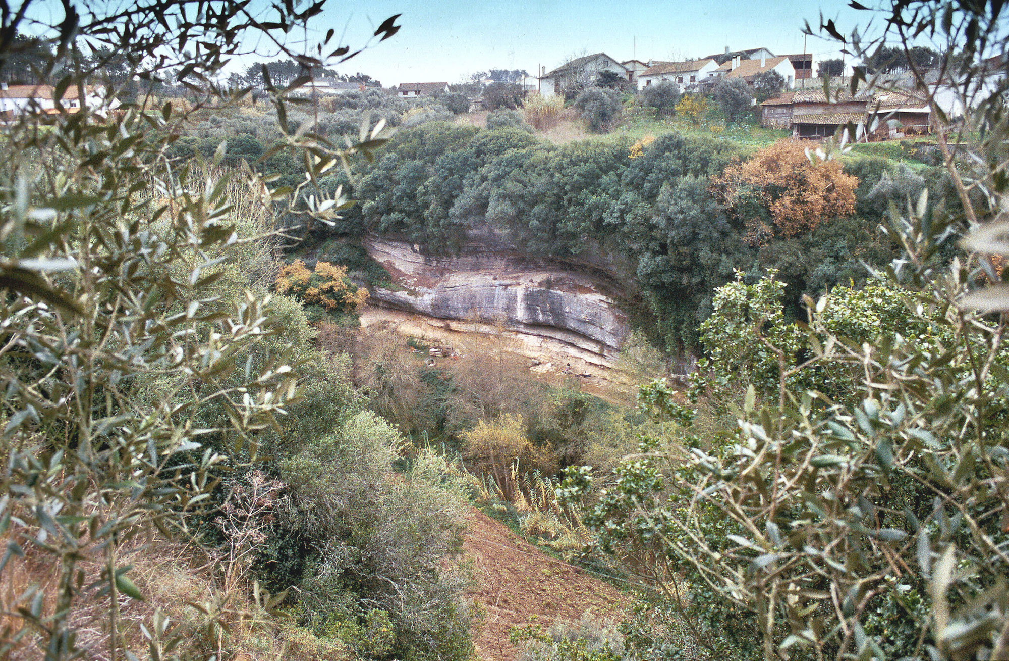
[[[771,281],[723,288],[706,330],[715,376],[744,361],[721,384],[740,388],[738,423],[694,435],[694,412],[653,383],[641,399],[680,426],[681,449],[644,443],[593,521],[689,622],[731,610],[734,642],[759,641],[750,658],[1009,658],[1009,294],[992,259],[1009,254],[1009,126],[1005,79],[984,76],[1006,69],[1000,5],[901,2],[880,32],[822,29],[861,54],[923,36],[949,54],[940,69],[968,109],[956,124],[907,62],[962,205],[892,204],[904,257],[875,274],[885,286],[807,298],[803,323],[781,317]],[[966,254],[939,259],[959,233]],[[723,631],[701,633],[732,655]]]

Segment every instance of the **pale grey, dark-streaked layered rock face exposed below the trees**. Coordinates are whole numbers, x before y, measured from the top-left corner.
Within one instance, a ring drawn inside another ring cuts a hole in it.
[[[528,341],[560,343],[598,364],[615,356],[628,333],[627,314],[603,293],[614,285],[597,271],[524,259],[489,243],[467,246],[459,257],[423,255],[410,244],[374,237],[364,245],[403,287],[374,289],[372,305],[484,326],[501,323]]]

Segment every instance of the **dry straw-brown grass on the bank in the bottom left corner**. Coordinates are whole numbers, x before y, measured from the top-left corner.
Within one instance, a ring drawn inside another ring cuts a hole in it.
[[[30,535],[33,537],[33,535]],[[0,545],[11,541],[8,531],[0,535]],[[12,643],[2,655],[5,661],[40,661],[45,657],[42,632],[19,615],[29,607],[35,594],[42,593],[42,621],[53,615],[59,557],[46,554],[19,536],[24,556],[12,556],[0,572],[0,640]],[[87,542],[87,540],[85,540]],[[80,658],[111,661],[110,617],[112,602],[102,580],[107,558],[95,546],[82,544],[77,563],[80,571],[77,595],[68,625],[75,631]],[[215,554],[191,544],[166,540],[151,532],[137,536],[116,550],[116,565],[129,567],[128,577],[143,600],[118,594],[116,659],[128,651],[137,658],[148,657],[149,640],[143,629],[153,631],[155,617],[166,616],[169,627],[162,640],[179,638],[177,652],[183,658],[210,658],[221,661],[323,661],[351,659],[353,654],[339,641],[318,639],[308,630],[278,620],[256,603],[253,585],[243,580],[228,586],[226,562]],[[18,633],[24,631],[18,638]]]

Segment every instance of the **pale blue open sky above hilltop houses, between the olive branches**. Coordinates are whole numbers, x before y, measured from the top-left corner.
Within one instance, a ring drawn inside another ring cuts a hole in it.
[[[317,24],[364,43],[393,14],[403,14],[400,31],[375,43],[337,71],[362,72],[385,87],[411,82],[456,83],[488,69],[550,71],[572,57],[605,53],[618,61],[682,60],[764,46],[776,55],[803,52],[803,19],[814,30],[820,12],[849,32],[867,13],[847,3],[785,0],[513,0],[442,2],[370,0],[335,3]],[[836,44],[807,37],[814,61],[840,57]]]

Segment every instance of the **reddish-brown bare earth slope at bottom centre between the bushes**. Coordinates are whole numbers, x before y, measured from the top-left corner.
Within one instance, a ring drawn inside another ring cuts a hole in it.
[[[621,619],[630,597],[584,569],[551,558],[503,524],[472,509],[463,545],[477,586],[470,592],[484,610],[473,638],[476,654],[490,661],[515,661],[512,627],[577,621],[586,610]]]

